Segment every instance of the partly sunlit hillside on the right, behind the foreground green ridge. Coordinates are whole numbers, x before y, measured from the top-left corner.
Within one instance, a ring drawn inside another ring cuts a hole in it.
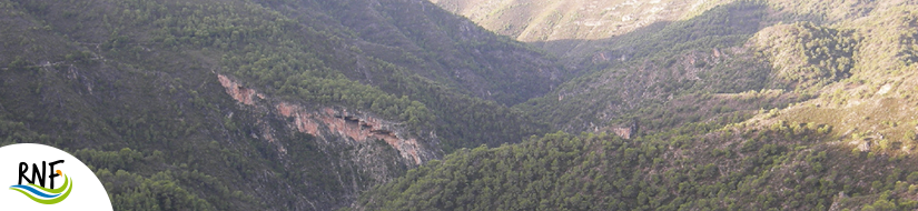
[[[650,130],[740,121],[760,109],[811,99],[851,77],[863,36],[852,27],[896,8],[856,3],[846,6],[872,12],[817,16],[793,13],[790,6],[797,4],[731,2],[608,39],[582,58],[583,76],[516,107],[569,132],[602,131],[634,118]],[[886,52],[876,53],[868,54]]]

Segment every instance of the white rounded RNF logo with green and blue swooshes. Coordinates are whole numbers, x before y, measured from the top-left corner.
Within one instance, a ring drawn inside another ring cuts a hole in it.
[[[112,210],[105,187],[86,164],[53,147],[0,148],[0,209]]]

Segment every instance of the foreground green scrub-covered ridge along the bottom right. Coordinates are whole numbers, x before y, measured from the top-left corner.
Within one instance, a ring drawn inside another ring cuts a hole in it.
[[[359,210],[910,210],[910,157],[825,144],[831,127],[691,124],[623,140],[553,133],[461,150],[358,201]],[[691,135],[709,134],[709,135]],[[895,170],[888,170],[888,169]],[[888,172],[877,174],[876,171]]]

